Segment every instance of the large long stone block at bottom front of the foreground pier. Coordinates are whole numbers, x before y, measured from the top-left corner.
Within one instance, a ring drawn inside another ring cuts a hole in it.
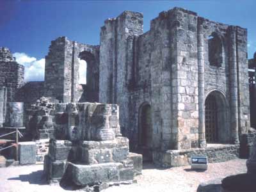
[[[68,163],[72,181],[77,186],[93,185],[99,182],[117,182],[121,163],[81,165]]]

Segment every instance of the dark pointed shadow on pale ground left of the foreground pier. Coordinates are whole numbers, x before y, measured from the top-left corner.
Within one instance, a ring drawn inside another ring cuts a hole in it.
[[[8,180],[20,180],[22,182],[29,182],[29,184],[47,185],[43,170],[31,172],[28,175],[19,175],[19,177],[8,178]]]

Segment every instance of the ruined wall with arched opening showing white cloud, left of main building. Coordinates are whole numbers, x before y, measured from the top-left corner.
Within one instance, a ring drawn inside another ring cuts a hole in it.
[[[83,53],[83,55],[81,55]],[[88,57],[88,55],[90,55]],[[86,93],[79,85],[79,58],[87,60]],[[45,97],[54,102],[98,101],[99,46],[79,44],[67,37],[52,41],[45,57]],[[82,100],[81,100],[82,99]]]

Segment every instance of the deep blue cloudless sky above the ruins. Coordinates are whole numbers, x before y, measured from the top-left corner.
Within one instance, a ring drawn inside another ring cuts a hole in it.
[[[248,29],[248,58],[256,51],[256,1],[15,1],[0,0],[0,47],[44,58],[51,40],[67,36],[99,44],[104,20],[124,10],[144,15],[144,31],[159,12],[180,6],[207,19]]]

